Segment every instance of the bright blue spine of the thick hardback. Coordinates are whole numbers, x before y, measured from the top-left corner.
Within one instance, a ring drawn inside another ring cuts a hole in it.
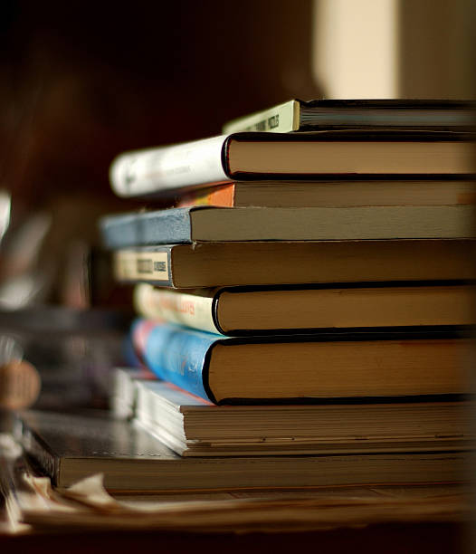
[[[138,355],[157,377],[214,402],[208,381],[209,351],[218,337],[211,333],[138,320],[132,340]]]

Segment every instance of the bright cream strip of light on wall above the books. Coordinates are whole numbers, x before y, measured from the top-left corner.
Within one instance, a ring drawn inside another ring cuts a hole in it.
[[[398,0],[314,0],[314,30],[326,97],[398,97]]]

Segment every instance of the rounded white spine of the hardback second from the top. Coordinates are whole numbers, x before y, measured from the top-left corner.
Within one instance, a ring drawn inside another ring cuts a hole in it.
[[[109,179],[119,196],[160,194],[184,186],[224,182],[224,137],[127,152],[114,159]]]

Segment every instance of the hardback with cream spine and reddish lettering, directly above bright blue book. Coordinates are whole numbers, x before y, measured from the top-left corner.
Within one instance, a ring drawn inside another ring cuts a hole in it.
[[[347,283],[172,291],[138,283],[139,315],[236,336],[319,329],[471,325],[471,285]]]

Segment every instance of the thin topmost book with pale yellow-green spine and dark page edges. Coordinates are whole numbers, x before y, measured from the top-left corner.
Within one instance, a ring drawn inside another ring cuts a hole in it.
[[[318,129],[465,129],[474,125],[473,106],[461,100],[288,100],[233,119],[224,133]]]

